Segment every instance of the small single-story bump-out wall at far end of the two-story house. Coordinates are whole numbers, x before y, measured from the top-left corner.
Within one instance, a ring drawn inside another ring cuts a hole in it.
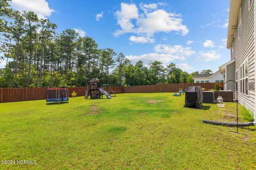
[[[226,77],[225,81],[228,81],[228,80],[235,81],[235,62],[227,65],[225,77]],[[231,82],[231,81],[229,81],[225,84],[225,90],[232,90],[235,92],[236,91],[235,87],[236,87],[235,83]]]

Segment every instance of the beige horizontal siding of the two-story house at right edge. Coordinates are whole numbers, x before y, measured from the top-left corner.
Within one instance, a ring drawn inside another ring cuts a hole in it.
[[[254,1],[253,1],[254,3]],[[238,101],[240,104],[249,108],[252,112],[255,113],[255,92],[248,92],[248,96],[242,94],[240,91],[241,83],[241,73],[240,66],[248,60],[249,70],[248,78],[249,81],[254,80],[255,78],[255,53],[254,53],[254,4],[251,5],[249,10],[249,1],[243,0],[241,3],[242,9],[242,34],[241,37],[238,37],[238,24],[236,27],[236,33],[233,42],[233,57],[235,58],[235,67],[238,71]]]

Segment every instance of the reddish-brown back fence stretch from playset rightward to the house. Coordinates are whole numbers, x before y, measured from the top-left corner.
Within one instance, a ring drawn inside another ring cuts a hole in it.
[[[205,90],[214,89],[216,83],[173,83],[173,84],[155,84],[144,86],[124,87],[124,93],[140,93],[140,92],[178,92],[179,89],[185,90],[189,86],[201,86]],[[218,83],[223,87],[222,83]]]

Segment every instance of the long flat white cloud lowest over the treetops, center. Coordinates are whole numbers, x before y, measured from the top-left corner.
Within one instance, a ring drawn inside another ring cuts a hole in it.
[[[141,60],[143,61],[144,64],[148,64],[150,61],[159,61],[159,62],[162,62],[163,64],[167,64],[173,60],[179,60],[179,59],[182,60],[182,58],[177,55],[158,54],[158,53],[142,54],[139,56],[127,55],[126,58],[131,60],[132,63],[136,63]]]

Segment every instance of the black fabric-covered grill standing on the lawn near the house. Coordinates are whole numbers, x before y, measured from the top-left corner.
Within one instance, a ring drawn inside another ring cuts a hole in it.
[[[190,86],[185,90],[184,107],[201,108],[203,105],[203,91],[200,86]]]

